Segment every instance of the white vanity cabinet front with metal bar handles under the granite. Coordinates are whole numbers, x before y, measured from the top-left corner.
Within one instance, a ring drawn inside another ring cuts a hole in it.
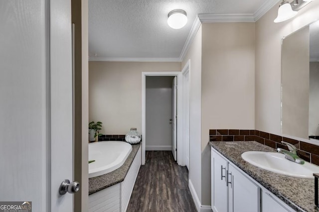
[[[213,212],[293,212],[294,210],[211,147]]]

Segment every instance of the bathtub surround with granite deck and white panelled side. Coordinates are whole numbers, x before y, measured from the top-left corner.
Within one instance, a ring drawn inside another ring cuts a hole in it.
[[[125,142],[121,143],[127,144]],[[125,212],[129,205],[140,166],[141,144],[135,144],[132,145],[129,157],[120,168],[98,177],[89,178],[88,211]]]

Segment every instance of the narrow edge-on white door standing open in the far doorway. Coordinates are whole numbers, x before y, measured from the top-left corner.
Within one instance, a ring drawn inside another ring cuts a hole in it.
[[[172,95],[171,95],[171,103],[172,103],[172,138],[171,138],[171,152],[173,153],[174,160],[176,161],[176,153],[177,153],[177,77],[174,77],[172,82]]]

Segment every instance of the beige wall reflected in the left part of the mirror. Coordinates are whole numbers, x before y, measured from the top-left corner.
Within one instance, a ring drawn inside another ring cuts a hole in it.
[[[282,133],[308,139],[309,27],[282,44]]]

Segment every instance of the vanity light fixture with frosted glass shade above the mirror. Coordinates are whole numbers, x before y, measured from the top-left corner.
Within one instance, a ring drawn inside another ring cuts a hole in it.
[[[289,3],[288,0],[283,0],[278,9],[278,16],[274,20],[275,23],[279,23],[288,20],[297,15],[298,10],[306,6],[313,0],[293,0]]]

